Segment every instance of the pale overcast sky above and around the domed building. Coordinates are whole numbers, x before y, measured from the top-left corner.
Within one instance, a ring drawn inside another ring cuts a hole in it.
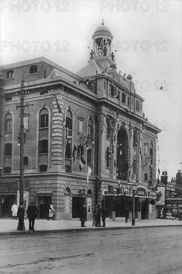
[[[104,19],[117,71],[131,74],[143,111],[157,125],[160,170],[182,169],[182,2],[0,1],[0,62],[44,56],[76,73],[88,64]],[[160,90],[160,87],[163,87]]]

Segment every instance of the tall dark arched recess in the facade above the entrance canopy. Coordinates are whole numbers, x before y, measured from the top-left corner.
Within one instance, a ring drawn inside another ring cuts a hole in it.
[[[117,179],[127,180],[129,168],[129,142],[124,128],[117,134]]]

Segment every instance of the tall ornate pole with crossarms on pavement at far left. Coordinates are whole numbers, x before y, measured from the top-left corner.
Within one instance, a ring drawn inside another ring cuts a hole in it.
[[[23,166],[23,146],[24,146],[24,110],[25,108],[29,108],[29,106],[33,106],[33,104],[29,105],[29,103],[26,103],[24,105],[24,99],[26,98],[27,93],[29,93],[29,88],[24,89],[24,80],[21,80],[21,88],[16,90],[17,93],[20,93],[19,99],[20,103],[19,105],[16,105],[16,110],[20,108],[20,134],[18,136],[18,145],[20,146],[20,179],[19,179],[19,204],[23,202],[23,182],[24,182],[24,166]]]

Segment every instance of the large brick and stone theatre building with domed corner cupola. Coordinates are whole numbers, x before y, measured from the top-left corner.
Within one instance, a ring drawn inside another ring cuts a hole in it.
[[[44,57],[3,66],[1,217],[10,217],[19,201],[23,84],[30,105],[24,109],[26,206],[35,201],[39,218],[46,218],[52,201],[57,220],[75,219],[86,201],[91,219],[95,205],[105,203],[107,217],[117,218],[126,205],[131,211],[135,195],[135,217],[155,218],[160,130],[146,119],[132,76],[117,71],[103,21],[92,39],[88,64],[77,73]]]

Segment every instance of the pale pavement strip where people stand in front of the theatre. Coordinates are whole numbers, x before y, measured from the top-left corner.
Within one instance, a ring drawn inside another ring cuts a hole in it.
[[[17,231],[18,220],[12,220],[10,218],[0,219],[0,236],[3,235],[23,235],[23,234],[37,234],[37,233],[59,233],[59,232],[73,232],[73,231],[91,231],[91,230],[105,230],[105,229],[137,229],[146,227],[165,227],[165,226],[182,226],[182,221],[179,220],[135,220],[135,226],[131,225],[131,221],[128,220],[125,223],[125,218],[105,219],[105,227],[92,227],[92,221],[85,223],[86,227],[81,228],[81,222],[79,219],[74,220],[35,220],[35,232],[28,231],[28,219],[24,220],[25,231]],[[101,221],[102,225],[102,221]]]

